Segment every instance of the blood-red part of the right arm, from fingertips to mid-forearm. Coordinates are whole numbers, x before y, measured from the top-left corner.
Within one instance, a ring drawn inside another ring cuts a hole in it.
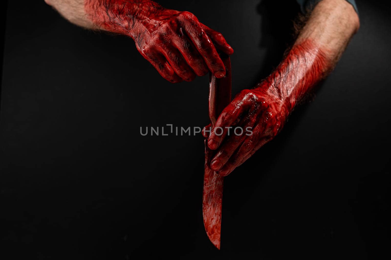
[[[325,53],[312,41],[303,41],[268,78],[233,99],[208,139],[209,148],[218,149],[211,160],[213,170],[228,175],[281,131],[295,104],[329,69]]]

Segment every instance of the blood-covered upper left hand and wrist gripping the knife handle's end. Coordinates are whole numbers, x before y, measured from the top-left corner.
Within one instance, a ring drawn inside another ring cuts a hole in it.
[[[165,9],[151,0],[86,0],[86,13],[98,28],[125,34],[137,50],[170,82],[191,81],[225,68],[216,48],[231,55],[224,37],[190,12]]]

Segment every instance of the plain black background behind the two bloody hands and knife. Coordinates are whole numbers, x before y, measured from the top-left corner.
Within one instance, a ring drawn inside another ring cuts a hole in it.
[[[274,2],[274,3],[273,3]],[[298,11],[279,1],[161,1],[234,48],[233,94],[281,60]],[[1,95],[1,259],[375,259],[390,255],[389,8],[361,28],[312,102],[225,179],[221,251],[202,221],[208,77],[166,82],[131,39],[9,1]],[[5,249],[4,249],[5,248]]]

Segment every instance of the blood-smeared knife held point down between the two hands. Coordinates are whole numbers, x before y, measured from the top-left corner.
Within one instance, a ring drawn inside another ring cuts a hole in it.
[[[226,69],[223,78],[209,76],[209,118],[212,127],[222,110],[231,102],[231,61],[225,54],[220,55]],[[215,151],[208,148],[208,139],[205,139],[205,172],[203,189],[203,219],[206,234],[217,249],[220,249],[221,237],[221,206],[223,178],[210,169],[210,160]]]

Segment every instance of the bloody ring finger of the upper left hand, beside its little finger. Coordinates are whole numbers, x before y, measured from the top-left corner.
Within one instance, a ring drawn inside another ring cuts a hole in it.
[[[195,78],[194,71],[188,66],[182,54],[174,46],[166,45],[161,48],[161,53],[170,63],[175,73],[185,81],[192,81]]]

